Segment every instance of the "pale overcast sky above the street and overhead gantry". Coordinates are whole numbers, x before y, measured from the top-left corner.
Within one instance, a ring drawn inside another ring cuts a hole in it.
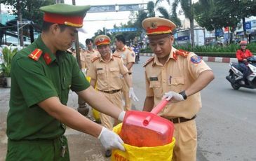
[[[115,4],[129,4],[129,3],[147,3],[149,0],[76,0],[76,5],[115,5]],[[65,3],[72,4],[72,0],[65,0]],[[163,5],[165,2],[162,2]],[[161,5],[162,5],[161,3]],[[168,6],[168,3],[166,3]],[[167,8],[168,9],[168,8]],[[129,20],[129,12],[106,12],[106,13],[87,13],[86,18],[83,19],[83,30],[86,34],[79,32],[79,42],[85,44],[86,38],[91,38],[99,29],[106,27],[113,29],[114,25],[120,26]]]

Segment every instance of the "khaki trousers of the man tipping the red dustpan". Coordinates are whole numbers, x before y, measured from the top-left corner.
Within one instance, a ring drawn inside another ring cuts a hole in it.
[[[174,124],[176,139],[173,149],[173,161],[196,161],[197,131],[196,121]]]

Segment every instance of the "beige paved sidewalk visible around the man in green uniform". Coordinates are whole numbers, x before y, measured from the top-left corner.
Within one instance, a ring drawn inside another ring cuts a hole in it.
[[[8,113],[8,103],[10,98],[10,88],[0,87],[0,160],[5,160],[7,137],[6,137],[6,117]],[[69,92],[68,106],[77,109],[77,95]],[[69,142],[70,160],[90,160],[90,161],[108,161],[105,158],[105,151],[100,141],[88,134],[83,134],[67,127],[65,132]]]

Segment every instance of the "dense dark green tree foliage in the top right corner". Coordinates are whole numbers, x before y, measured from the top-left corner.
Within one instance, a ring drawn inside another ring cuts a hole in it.
[[[195,19],[209,31],[222,27],[236,27],[243,18],[256,15],[255,1],[199,0],[195,3]]]

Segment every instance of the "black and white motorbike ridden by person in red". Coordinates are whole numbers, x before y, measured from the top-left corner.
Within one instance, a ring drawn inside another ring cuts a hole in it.
[[[229,76],[226,76],[226,78],[234,90],[238,90],[240,87],[256,88],[256,57],[248,57],[245,64],[248,67],[245,80],[243,79],[243,73],[239,70],[239,64],[236,62],[229,64],[231,69],[229,69]]]

